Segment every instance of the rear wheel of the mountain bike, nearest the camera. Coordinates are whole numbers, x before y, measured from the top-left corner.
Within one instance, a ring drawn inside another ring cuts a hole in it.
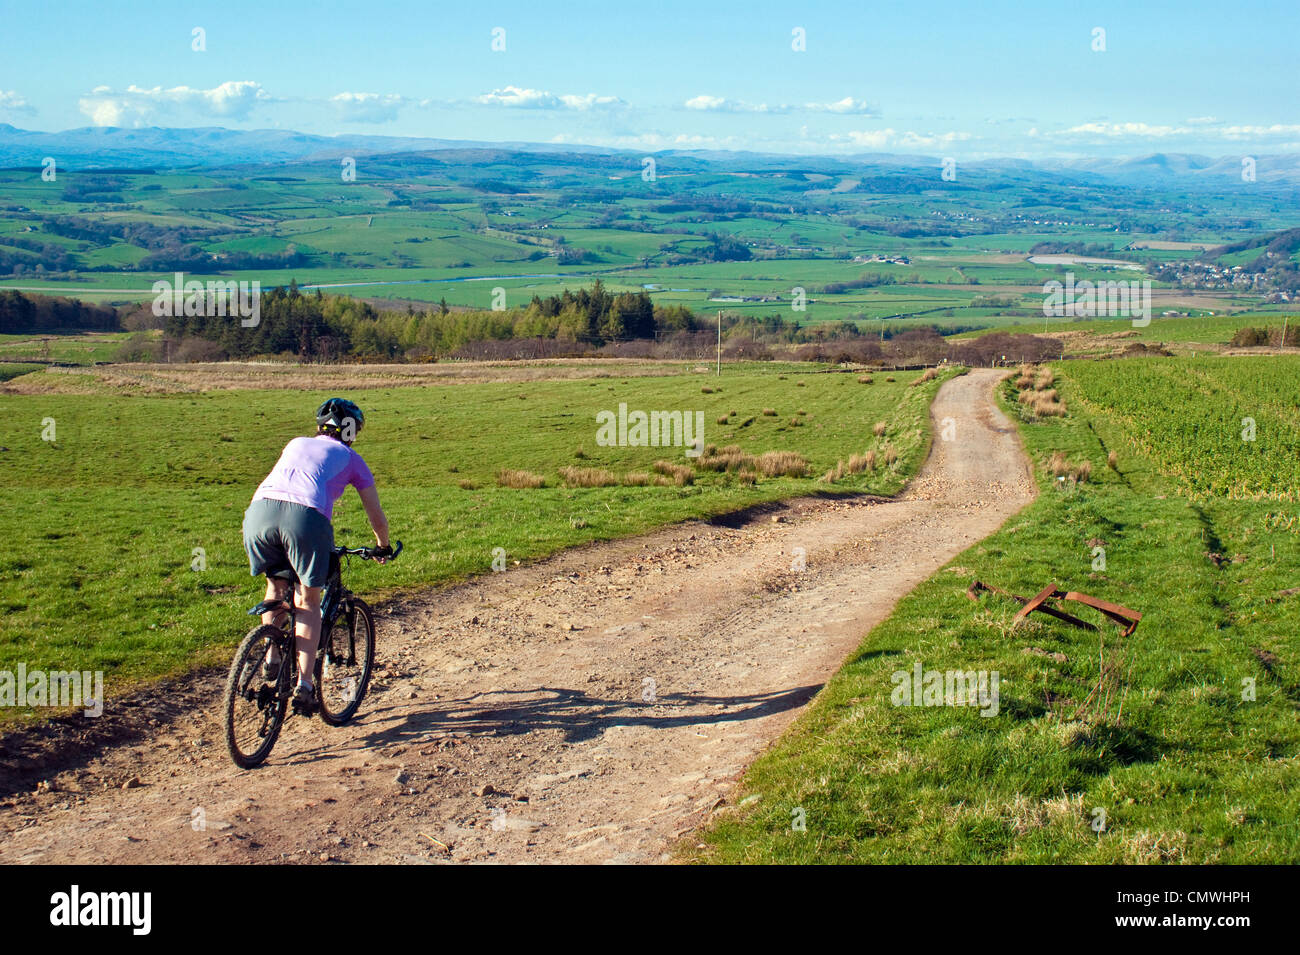
[[[225,712],[230,759],[240,769],[252,769],[261,764],[270,755],[276,739],[280,738],[280,729],[285,725],[289,698],[280,691],[280,685],[286,682],[285,673],[292,669],[290,665],[292,648],[289,647],[286,651],[281,647],[281,676],[276,682],[268,683],[261,676],[261,665],[270,647],[281,642],[283,631],[278,628],[268,624],[254,628],[243,638],[239,650],[235,651],[234,663],[230,664],[221,706]]]

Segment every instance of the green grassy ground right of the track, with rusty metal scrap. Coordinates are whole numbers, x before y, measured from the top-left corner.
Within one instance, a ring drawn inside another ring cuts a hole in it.
[[[1069,416],[1020,424],[1039,499],[866,637],[746,773],[742,808],[692,837],[685,855],[1300,861],[1300,513],[1287,477],[1300,360],[1204,363],[1058,365]],[[1205,416],[1196,429],[1182,414],[1192,395]],[[1248,448],[1238,447],[1242,409],[1258,420]],[[1058,486],[1045,469],[1057,451],[1091,463],[1092,478]],[[1118,470],[1106,466],[1112,451]],[[1188,456],[1248,470],[1254,496],[1178,468]],[[1054,581],[1145,616],[1127,639],[1041,615],[1013,630],[1018,604],[971,603],[972,578],[1023,595]],[[998,672],[997,715],[893,706],[893,673],[916,664]]]

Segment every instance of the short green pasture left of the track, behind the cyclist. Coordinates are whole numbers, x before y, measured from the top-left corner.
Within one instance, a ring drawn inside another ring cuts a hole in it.
[[[857,374],[793,368],[350,392],[368,420],[358,451],[407,550],[385,568],[355,565],[348,582],[369,596],[485,573],[498,547],[523,561],[796,494],[897,491],[924,457],[930,400],[950,372],[911,387],[916,373],[896,382],[878,374],[867,385]],[[16,531],[0,555],[0,669],[101,669],[113,695],[224,660],[247,630],[243,611],[260,599],[240,543],[243,509],[329,394],[147,395],[105,386],[92,399],[0,395],[8,448],[0,487]],[[745,483],[737,473],[701,470],[685,486],[564,486],[566,466],[621,479],[653,474],[659,459],[690,464],[680,447],[597,446],[595,414],[620,403],[702,411],[706,443],[794,451],[806,456],[810,477]],[[883,438],[872,433],[878,421],[888,424]],[[840,459],[874,448],[883,460],[889,447],[898,455],[893,466],[833,486],[816,481]],[[499,487],[502,468],[537,473],[546,485]],[[351,491],[334,526],[339,542],[373,541]],[[6,711],[4,719],[23,716]]]

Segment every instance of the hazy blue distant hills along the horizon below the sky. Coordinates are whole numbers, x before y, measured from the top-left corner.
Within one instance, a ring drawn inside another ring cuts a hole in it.
[[[337,160],[343,156],[390,156],[439,151],[490,149],[497,155],[564,153],[588,156],[633,155],[593,146],[552,143],[489,143],[415,136],[338,135],[321,136],[294,130],[229,130],[218,126],[192,129],[118,129],[87,126],[61,133],[21,130],[0,123],[0,168],[36,168],[53,156],[60,168],[78,169],[174,169],[185,166],[230,166],[243,164],[300,162]],[[642,155],[640,152],[634,153]],[[762,164],[764,168],[818,169],[829,174],[930,170],[936,156],[861,153],[854,156],[777,156],[755,152],[670,149],[656,157],[681,157],[693,162],[737,168]],[[1152,153],[1132,159],[993,159],[962,162],[967,173],[984,179],[1034,179],[1050,177],[1118,186],[1158,186],[1190,190],[1240,188],[1247,185],[1300,186],[1300,155],[1256,156],[1256,182],[1242,179],[1242,156],[1195,156]]]

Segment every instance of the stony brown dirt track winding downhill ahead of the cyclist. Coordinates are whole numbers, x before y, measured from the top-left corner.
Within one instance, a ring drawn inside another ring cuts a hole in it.
[[[0,863],[664,860],[902,595],[1031,499],[997,377],[942,386],[898,500],[677,525],[390,608],[358,720],[290,720],[257,770],[200,683],[0,800]]]

